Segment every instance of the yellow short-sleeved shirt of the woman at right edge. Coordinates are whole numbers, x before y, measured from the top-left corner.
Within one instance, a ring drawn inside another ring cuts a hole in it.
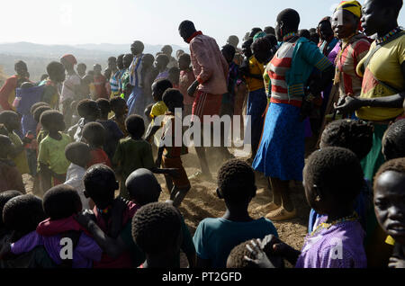
[[[370,50],[375,49],[375,41]],[[367,54],[357,66],[357,73],[362,75]],[[361,98],[376,98],[398,94],[405,89],[405,81],[401,71],[401,65],[405,60],[405,34],[392,40],[377,50],[371,58],[368,67],[365,68]],[[392,86],[395,90],[382,85],[380,82]],[[391,120],[403,112],[402,108],[386,107],[363,107],[356,112],[356,116],[367,121]]]

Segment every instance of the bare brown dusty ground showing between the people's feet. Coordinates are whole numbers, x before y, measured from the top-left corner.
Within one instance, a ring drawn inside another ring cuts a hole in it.
[[[235,150],[232,150],[232,152]],[[235,153],[238,155],[238,153]],[[242,157],[241,157],[242,158]],[[246,158],[246,157],[245,157]],[[183,156],[184,167],[187,174],[190,176],[196,173],[200,165],[198,163],[197,156],[195,155],[193,148],[190,148],[190,154]],[[190,229],[191,234],[195,232],[198,223],[205,218],[220,218],[225,213],[225,203],[220,200],[216,195],[216,173],[220,168],[221,162],[216,162],[215,158],[209,158],[209,164],[211,167],[211,172],[214,180],[212,182],[202,182],[197,180],[192,180],[192,189],[188,192],[185,197],[180,210],[184,216],[185,223]],[[266,210],[256,210],[258,207],[266,205],[270,202],[270,192],[267,186],[265,177],[262,174],[257,174],[257,196],[249,205],[250,215],[254,219],[259,219],[266,215]],[[159,183],[162,185],[162,195],[160,196],[160,201],[166,201],[169,198],[166,184],[163,175],[157,175]],[[31,192],[32,189],[32,179],[30,175],[23,175],[24,183],[26,184],[26,189]],[[307,232],[308,225],[308,214],[310,208],[305,201],[304,191],[302,188],[302,183],[291,184],[293,188],[292,197],[297,209],[297,218],[289,219],[283,222],[274,222],[275,228],[279,237],[290,246],[295,249],[301,249],[303,244],[303,239]],[[185,257],[182,257],[182,264],[186,265]],[[291,265],[290,265],[291,266]]]

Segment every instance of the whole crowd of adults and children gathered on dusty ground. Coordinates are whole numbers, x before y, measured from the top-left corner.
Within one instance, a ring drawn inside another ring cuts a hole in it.
[[[144,54],[136,40],[104,71],[67,54],[39,83],[17,62],[0,89],[0,267],[178,268],[183,252],[190,268],[281,268],[284,259],[297,268],[405,268],[401,7],[342,1],[311,30],[285,9],[275,28],[247,32],[241,49],[237,36],[220,49],[184,21],[178,33],[190,54],[174,58],[168,45]],[[178,109],[191,127],[247,115],[251,156],[236,158],[222,129],[220,147],[195,146],[201,172],[187,174],[188,147],[167,144],[179,137]],[[192,237],[178,207],[193,179],[213,180],[211,153],[222,162],[214,177],[226,212]],[[31,193],[22,174],[33,178]],[[169,201],[159,202],[155,174]],[[257,175],[272,200],[253,219]],[[297,213],[292,181],[311,207],[301,251],[272,222],[308,216]],[[73,256],[60,255],[65,238]]]

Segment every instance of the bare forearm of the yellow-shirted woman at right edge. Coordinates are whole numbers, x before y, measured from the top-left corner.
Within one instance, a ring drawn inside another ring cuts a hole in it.
[[[405,62],[401,65],[402,76],[405,80]],[[335,109],[338,112],[350,113],[356,110],[370,106],[370,107],[386,107],[386,108],[401,108],[405,99],[405,91],[400,94],[393,94],[390,96],[376,97],[376,98],[358,98],[351,96],[344,96],[338,104],[335,104]]]

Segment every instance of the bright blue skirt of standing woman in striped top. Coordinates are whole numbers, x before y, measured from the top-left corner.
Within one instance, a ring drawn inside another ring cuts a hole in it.
[[[266,177],[302,181],[305,154],[305,126],[300,108],[270,103],[253,168]]]

